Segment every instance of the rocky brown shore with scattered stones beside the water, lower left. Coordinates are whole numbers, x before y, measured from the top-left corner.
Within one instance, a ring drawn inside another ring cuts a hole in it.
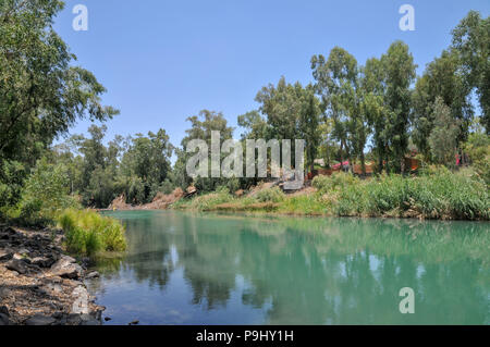
[[[85,280],[98,276],[62,249],[62,231],[0,225],[0,325],[100,325]]]

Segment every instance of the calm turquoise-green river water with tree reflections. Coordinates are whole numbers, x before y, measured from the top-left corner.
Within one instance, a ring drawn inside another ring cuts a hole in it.
[[[130,251],[91,286],[115,324],[489,323],[488,223],[114,216]]]

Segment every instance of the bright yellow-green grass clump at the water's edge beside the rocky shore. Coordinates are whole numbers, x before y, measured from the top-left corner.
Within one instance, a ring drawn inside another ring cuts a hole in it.
[[[124,226],[117,220],[89,210],[66,210],[58,218],[65,233],[70,252],[95,255],[102,251],[126,249]]]

